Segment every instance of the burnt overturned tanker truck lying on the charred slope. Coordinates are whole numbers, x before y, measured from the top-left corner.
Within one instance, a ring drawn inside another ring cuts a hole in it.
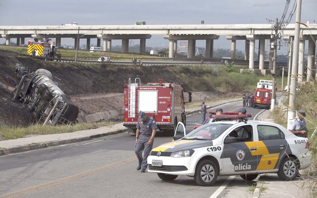
[[[53,82],[46,69],[30,72],[16,65],[16,90],[13,99],[20,100],[37,123],[55,125],[76,122],[78,107]]]

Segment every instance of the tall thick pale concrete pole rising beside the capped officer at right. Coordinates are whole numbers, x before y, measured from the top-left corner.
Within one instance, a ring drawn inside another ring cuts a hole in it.
[[[297,0],[296,8],[296,23],[295,23],[295,36],[294,36],[294,52],[292,62],[292,75],[291,75],[291,89],[289,95],[289,107],[290,110],[287,113],[287,120],[295,117],[295,99],[296,99],[296,85],[297,85],[297,73],[298,73],[298,62],[299,62],[299,33],[300,33],[300,14],[301,14],[301,0]],[[289,122],[288,124],[289,125]],[[287,126],[289,127],[289,126]]]

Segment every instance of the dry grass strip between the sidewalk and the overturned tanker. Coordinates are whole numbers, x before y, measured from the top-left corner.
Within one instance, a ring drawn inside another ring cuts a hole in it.
[[[0,140],[16,139],[26,137],[28,135],[58,134],[88,129],[97,129],[99,127],[111,126],[113,124],[115,124],[115,122],[107,121],[98,123],[83,123],[57,126],[35,124],[29,127],[9,127],[6,125],[0,125]]]

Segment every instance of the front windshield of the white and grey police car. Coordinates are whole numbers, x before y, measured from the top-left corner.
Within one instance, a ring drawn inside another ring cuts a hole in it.
[[[182,139],[185,140],[214,140],[223,132],[225,132],[232,124],[220,124],[220,123],[212,123],[206,124],[193,132],[188,133]]]

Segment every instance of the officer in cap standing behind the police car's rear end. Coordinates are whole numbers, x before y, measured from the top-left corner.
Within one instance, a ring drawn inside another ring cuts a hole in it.
[[[288,130],[294,133],[296,136],[307,137],[306,120],[304,118],[305,116],[305,110],[299,109],[297,117],[290,120]]]

